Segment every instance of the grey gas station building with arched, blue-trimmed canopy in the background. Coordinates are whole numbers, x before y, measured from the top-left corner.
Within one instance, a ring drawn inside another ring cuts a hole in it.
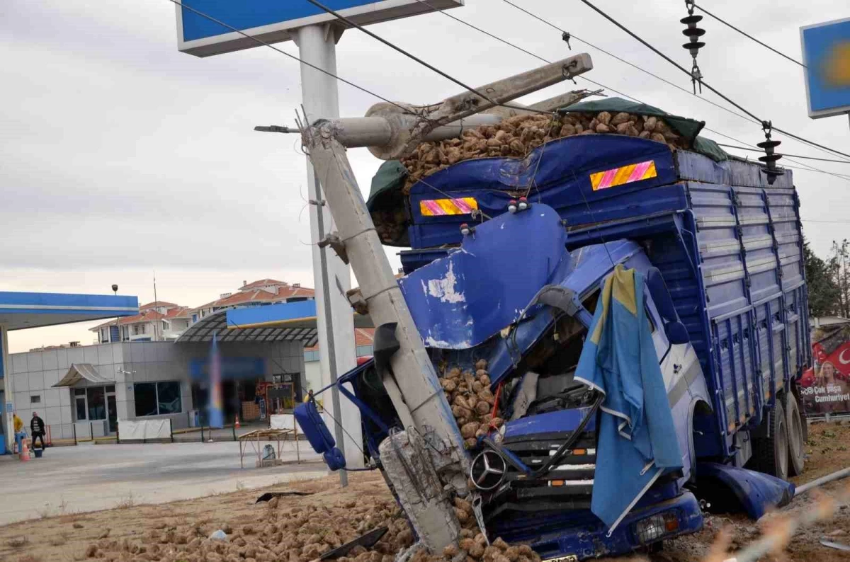
[[[8,301],[3,295],[10,294],[0,293],[0,299]],[[0,308],[0,323],[3,330],[22,329],[138,311],[135,297],[96,298],[113,301],[97,301],[99,312],[93,310],[85,318],[42,314],[37,323],[23,312],[13,317]],[[355,326],[371,327],[370,318],[354,318]],[[313,346],[318,334],[315,301],[302,301],[219,310],[175,341],[116,341],[8,356],[3,331],[4,403],[27,426],[31,413],[38,412],[52,439],[108,436],[121,419],[171,419],[173,429],[194,426],[203,423],[208,400],[213,337],[221,355],[228,421],[235,415],[243,423],[258,418],[260,397],[271,413],[291,410],[308,390],[327,383],[308,379],[304,347]]]

